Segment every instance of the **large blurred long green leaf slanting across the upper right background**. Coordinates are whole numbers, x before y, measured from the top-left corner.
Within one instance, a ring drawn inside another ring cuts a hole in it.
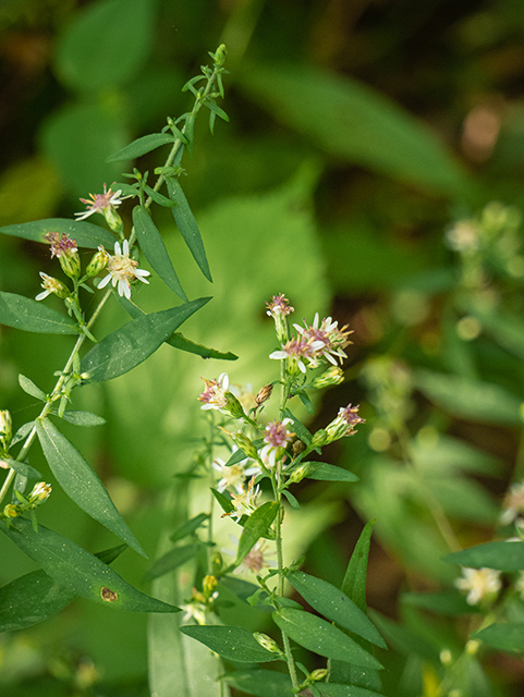
[[[313,143],[417,187],[456,195],[466,173],[437,136],[387,97],[312,66],[249,64],[242,89]]]

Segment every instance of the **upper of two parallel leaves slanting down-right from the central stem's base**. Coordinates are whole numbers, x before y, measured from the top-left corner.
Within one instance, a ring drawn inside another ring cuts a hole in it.
[[[319,614],[371,644],[387,648],[385,640],[366,614],[337,586],[300,571],[288,574],[287,578]]]

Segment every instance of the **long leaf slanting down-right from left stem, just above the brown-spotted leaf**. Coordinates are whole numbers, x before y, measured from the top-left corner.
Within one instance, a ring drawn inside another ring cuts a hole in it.
[[[102,482],[76,448],[47,418],[36,420],[36,432],[49,467],[65,493],[138,554],[147,557]]]

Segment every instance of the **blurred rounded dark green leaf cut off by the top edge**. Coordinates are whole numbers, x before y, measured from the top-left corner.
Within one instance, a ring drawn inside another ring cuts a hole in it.
[[[155,12],[150,0],[92,2],[58,41],[58,75],[80,93],[100,93],[129,82],[151,48]]]

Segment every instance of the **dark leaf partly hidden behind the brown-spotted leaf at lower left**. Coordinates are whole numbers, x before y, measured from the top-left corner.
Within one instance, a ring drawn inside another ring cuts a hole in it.
[[[127,545],[119,545],[98,557],[110,564]],[[76,598],[76,594],[58,584],[45,571],[32,571],[0,588],[0,632],[25,629],[63,610]]]

